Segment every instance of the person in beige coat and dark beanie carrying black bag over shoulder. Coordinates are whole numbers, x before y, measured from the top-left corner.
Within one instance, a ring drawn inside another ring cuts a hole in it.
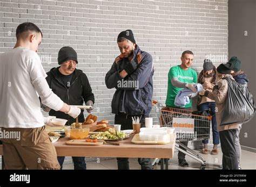
[[[199,94],[215,100],[216,102],[217,131],[220,135],[220,146],[223,152],[223,169],[238,169],[238,156],[235,147],[235,136],[240,125],[238,123],[221,125],[221,119],[228,115],[225,114],[224,109],[226,102],[228,102],[228,82],[225,78],[234,81],[234,78],[230,74],[231,64],[220,64],[217,68],[217,84],[213,87],[212,92],[203,90],[199,92]],[[232,105],[232,103],[230,103],[230,105]]]

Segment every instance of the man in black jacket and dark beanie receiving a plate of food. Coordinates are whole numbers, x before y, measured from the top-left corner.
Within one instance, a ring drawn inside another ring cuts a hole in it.
[[[87,76],[82,70],[76,69],[77,66],[77,53],[69,46],[62,47],[58,52],[57,68],[52,68],[46,77],[46,81],[52,91],[59,96],[64,102],[70,105],[90,105],[93,106],[95,101],[94,95]],[[68,120],[66,125],[75,123],[75,119],[70,118],[64,112],[55,111],[42,105],[44,111],[49,112],[49,116],[56,116],[57,118]],[[86,109],[91,112],[93,107]],[[84,122],[84,110],[78,116],[78,122]],[[58,156],[58,161],[62,169],[64,156]],[[74,169],[86,169],[85,157],[72,157]]]

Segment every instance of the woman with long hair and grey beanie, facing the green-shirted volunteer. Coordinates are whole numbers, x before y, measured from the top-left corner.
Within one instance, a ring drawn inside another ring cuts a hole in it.
[[[209,59],[204,60],[203,70],[201,70],[198,76],[198,83],[202,84],[205,90],[211,91],[216,84],[216,68],[213,66],[212,61]],[[213,149],[211,155],[218,154],[219,132],[217,131],[217,122],[215,116],[215,100],[212,100],[205,96],[198,97],[198,110],[199,111],[211,111],[214,113],[212,116],[212,136],[213,136]],[[203,154],[208,154],[208,140],[203,140],[204,148]]]

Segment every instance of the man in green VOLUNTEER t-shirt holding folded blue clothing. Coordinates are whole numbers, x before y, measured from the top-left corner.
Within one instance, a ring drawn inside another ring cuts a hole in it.
[[[195,87],[195,83],[197,83],[197,72],[190,68],[192,61],[194,59],[194,54],[191,51],[184,51],[181,55],[181,64],[178,66],[173,66],[168,74],[168,89],[166,96],[166,110],[169,110],[169,107],[174,108],[182,108],[185,110],[192,109],[192,100],[190,99],[190,103],[186,104],[184,107],[179,107],[174,105],[174,100],[176,95],[180,90],[184,88],[191,89],[192,95],[190,97],[194,97],[197,95],[197,88]],[[188,141],[181,141],[183,145],[187,146]],[[181,147],[181,149],[186,150]],[[179,151],[178,160],[179,165],[181,167],[188,167],[188,163],[185,160],[185,153]]]

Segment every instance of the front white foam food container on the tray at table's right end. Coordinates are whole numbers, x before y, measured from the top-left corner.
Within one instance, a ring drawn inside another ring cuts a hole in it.
[[[139,133],[140,141],[167,141],[168,134],[164,131],[144,131]]]

